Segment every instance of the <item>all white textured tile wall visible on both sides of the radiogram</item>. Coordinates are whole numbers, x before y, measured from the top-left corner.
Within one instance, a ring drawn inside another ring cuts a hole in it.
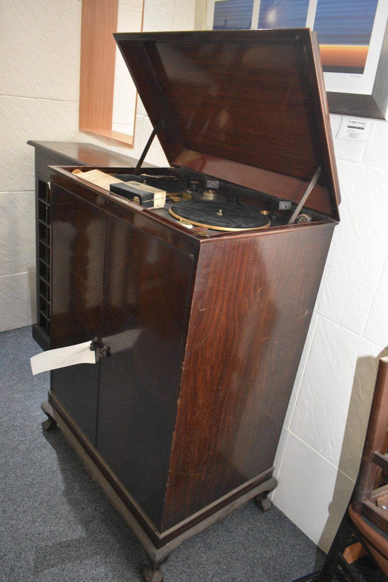
[[[129,0],[121,0],[127,5]],[[0,329],[34,318],[33,150],[77,134],[80,2],[2,0]],[[144,30],[191,30],[194,0],[145,0]],[[35,20],[39,24],[35,24]],[[333,134],[340,118],[332,116]],[[138,102],[139,156],[152,130]],[[388,123],[367,144],[334,139],[343,202],[276,455],[274,502],[328,549],[360,462],[379,356],[388,345]],[[155,140],[147,160],[167,164]]]

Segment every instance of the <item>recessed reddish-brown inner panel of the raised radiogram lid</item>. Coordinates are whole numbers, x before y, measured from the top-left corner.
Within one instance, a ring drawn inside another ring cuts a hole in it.
[[[291,42],[148,48],[185,149],[307,180],[322,157],[301,51]]]

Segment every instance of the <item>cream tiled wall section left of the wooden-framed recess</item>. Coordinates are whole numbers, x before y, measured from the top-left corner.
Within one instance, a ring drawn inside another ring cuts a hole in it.
[[[0,3],[0,331],[35,321],[34,149],[76,140],[81,2]]]

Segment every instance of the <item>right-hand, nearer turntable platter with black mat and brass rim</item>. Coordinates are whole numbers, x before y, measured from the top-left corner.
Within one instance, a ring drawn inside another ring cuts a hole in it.
[[[261,228],[269,226],[270,221],[260,210],[227,204],[221,202],[204,202],[202,200],[190,200],[188,202],[177,202],[171,207],[171,213],[179,218],[185,218],[189,222],[197,222],[200,225],[217,226],[220,229],[245,229]],[[222,211],[222,215],[217,212]]]

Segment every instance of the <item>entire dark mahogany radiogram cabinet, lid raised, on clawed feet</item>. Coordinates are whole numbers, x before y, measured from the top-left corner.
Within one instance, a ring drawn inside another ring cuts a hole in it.
[[[116,40],[171,166],[140,173],[211,177],[268,208],[311,190],[311,222],[204,232],[52,168],[51,347],[90,341],[97,363],[51,372],[46,428],[60,425],[159,582],[186,538],[250,498],[270,506],[339,188],[310,31]]]

